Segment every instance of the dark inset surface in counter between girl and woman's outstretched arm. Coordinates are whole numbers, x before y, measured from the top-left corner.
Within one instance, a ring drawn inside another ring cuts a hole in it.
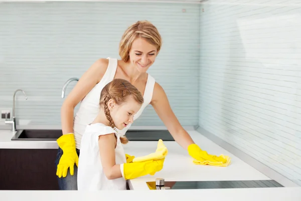
[[[175,141],[168,130],[131,130],[125,136],[129,141]]]

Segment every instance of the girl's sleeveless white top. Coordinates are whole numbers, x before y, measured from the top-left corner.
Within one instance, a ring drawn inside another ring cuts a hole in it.
[[[123,177],[109,180],[103,172],[98,137],[110,133],[115,133],[117,137],[115,162],[120,164],[120,169],[123,170],[126,158],[118,133],[101,123],[87,125],[80,146],[77,170],[78,190],[126,190],[126,180]]]

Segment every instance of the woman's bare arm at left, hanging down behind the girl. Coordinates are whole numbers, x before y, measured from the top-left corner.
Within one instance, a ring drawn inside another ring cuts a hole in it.
[[[107,59],[98,59],[82,75],[75,87],[64,100],[61,108],[61,121],[63,135],[73,133],[73,116],[76,105],[101,80],[108,66]]]

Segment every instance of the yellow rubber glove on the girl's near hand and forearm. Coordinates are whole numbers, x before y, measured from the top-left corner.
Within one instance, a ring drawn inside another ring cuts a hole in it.
[[[162,170],[164,160],[165,158],[159,160],[136,162],[136,163],[124,163],[123,164],[124,179],[126,180],[133,179],[147,174],[154,175],[156,172]]]

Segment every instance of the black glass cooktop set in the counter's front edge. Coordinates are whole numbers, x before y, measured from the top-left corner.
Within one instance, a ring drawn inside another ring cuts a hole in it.
[[[156,181],[146,182],[149,189],[156,190]],[[210,189],[210,188],[266,188],[284,187],[274,180],[237,181],[165,181],[164,186],[171,189]],[[157,189],[160,189],[157,187]]]

